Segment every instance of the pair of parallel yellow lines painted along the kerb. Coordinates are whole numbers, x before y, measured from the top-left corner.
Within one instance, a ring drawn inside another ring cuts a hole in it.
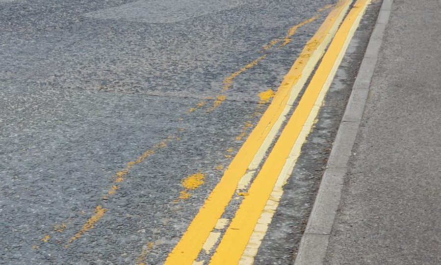
[[[253,162],[263,159],[264,153],[285,120],[285,114],[335,35],[298,106],[251,184],[248,195],[245,196],[235,213],[210,264],[233,265],[239,262],[276,182],[281,174],[286,172],[285,168],[292,167],[300,153],[299,148],[293,153],[293,148],[296,142],[301,141],[300,146],[303,143],[307,133],[304,133],[302,137],[301,132],[304,126],[308,125],[308,121],[311,122],[311,117],[312,120],[316,117],[324,95],[369,1],[358,0],[340,27],[338,26],[352,0],[340,0],[331,11],[285,76],[258,125],[190,223],[180,242],[168,256],[166,265],[191,265],[196,260],[204,242],[231,201],[240,180]]]

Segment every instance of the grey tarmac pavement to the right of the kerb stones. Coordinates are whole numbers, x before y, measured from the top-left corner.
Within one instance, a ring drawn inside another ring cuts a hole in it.
[[[325,264],[441,264],[440,10],[393,2]]]

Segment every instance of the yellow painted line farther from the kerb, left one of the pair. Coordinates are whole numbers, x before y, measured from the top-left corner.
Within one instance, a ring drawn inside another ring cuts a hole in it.
[[[334,34],[332,29],[338,27],[341,22],[339,18],[344,16],[350,2],[351,0],[340,0],[294,62],[256,128],[250,133],[204,206],[169,254],[165,262],[166,265],[192,264],[197,258],[209,233],[230,202],[236,186],[261,149],[263,142],[265,140],[272,141],[272,139],[267,139],[268,134],[272,131],[273,126],[280,122],[280,117],[286,111],[286,107],[289,110],[289,103],[294,102],[303,83],[308,79],[314,65],[321,57],[323,53],[321,49],[327,46],[326,40],[332,38]],[[299,85],[297,86],[297,84]]]

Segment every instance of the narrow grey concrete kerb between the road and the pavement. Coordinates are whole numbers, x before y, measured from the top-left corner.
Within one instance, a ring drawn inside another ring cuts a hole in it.
[[[392,2],[393,0],[383,0],[378,13],[377,22],[370,36],[357,78],[352,86],[351,96],[340,122],[307,227],[300,240],[294,265],[324,264],[340,202],[344,176],[348,170],[347,162],[351,156],[363,117],[370,82],[377,64],[384,31],[389,22]]]

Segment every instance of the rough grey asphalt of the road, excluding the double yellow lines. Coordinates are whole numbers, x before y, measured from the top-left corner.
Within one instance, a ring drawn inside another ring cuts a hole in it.
[[[162,264],[336,2],[0,1],[0,264]]]

